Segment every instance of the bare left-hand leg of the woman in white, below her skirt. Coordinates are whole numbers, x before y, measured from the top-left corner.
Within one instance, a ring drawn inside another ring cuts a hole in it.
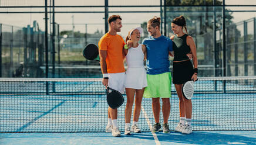
[[[126,88],[127,102],[126,102],[126,108],[124,112],[125,123],[130,123],[130,120],[131,120],[134,94],[135,94],[135,89]]]

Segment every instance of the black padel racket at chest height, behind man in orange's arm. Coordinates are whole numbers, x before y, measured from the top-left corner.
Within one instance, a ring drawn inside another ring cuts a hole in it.
[[[95,44],[88,44],[83,50],[83,57],[87,60],[100,61],[98,47]]]

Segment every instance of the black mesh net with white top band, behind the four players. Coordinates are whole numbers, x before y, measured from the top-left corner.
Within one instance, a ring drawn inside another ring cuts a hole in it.
[[[108,106],[101,81],[0,78],[0,133],[105,132]],[[256,77],[202,77],[194,87],[193,130],[256,130]],[[171,90],[169,125],[174,130],[179,122],[179,101],[173,84]],[[125,95],[124,99],[118,109],[122,131]],[[153,124],[151,99],[143,98],[139,127],[150,131]]]

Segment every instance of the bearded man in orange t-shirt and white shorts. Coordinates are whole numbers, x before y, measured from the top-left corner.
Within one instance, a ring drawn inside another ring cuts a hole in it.
[[[122,18],[112,15],[108,19],[109,32],[99,40],[100,67],[102,69],[102,84],[124,93],[125,70],[123,65],[124,40],[117,32],[121,31]],[[113,136],[120,136],[117,125],[117,109],[108,109],[108,122],[106,132],[112,132]]]

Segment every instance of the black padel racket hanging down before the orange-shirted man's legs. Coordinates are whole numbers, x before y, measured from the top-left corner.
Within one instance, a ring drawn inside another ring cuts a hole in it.
[[[107,104],[109,104],[110,108],[119,108],[123,101],[123,95],[119,91],[107,87]]]

